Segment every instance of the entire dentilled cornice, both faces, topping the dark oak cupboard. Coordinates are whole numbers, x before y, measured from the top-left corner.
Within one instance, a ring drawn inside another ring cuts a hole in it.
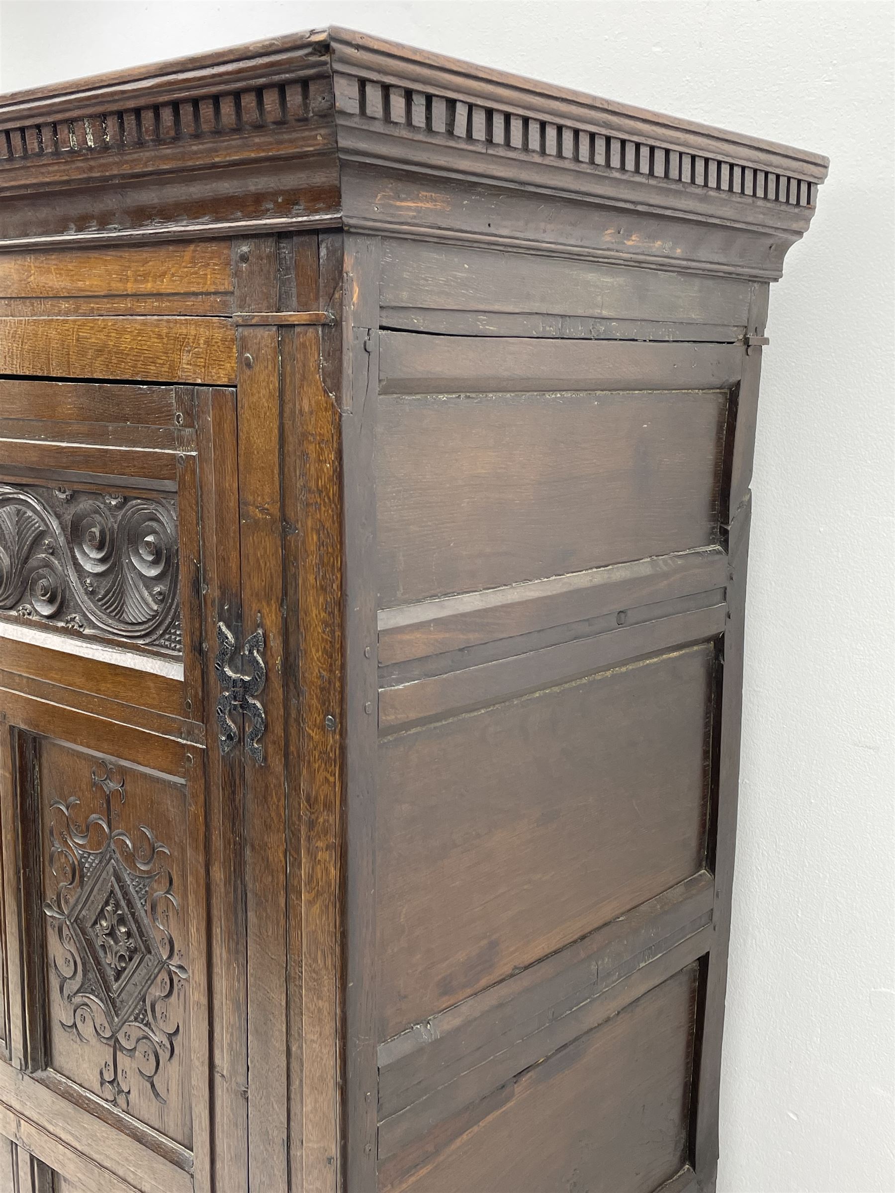
[[[0,247],[341,224],[773,279],[827,165],[331,29],[4,97]]]

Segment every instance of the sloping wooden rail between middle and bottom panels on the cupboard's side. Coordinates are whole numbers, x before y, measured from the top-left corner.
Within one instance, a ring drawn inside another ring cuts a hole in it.
[[[381,1044],[379,1156],[424,1137],[700,957],[714,902],[714,878],[700,870]]]

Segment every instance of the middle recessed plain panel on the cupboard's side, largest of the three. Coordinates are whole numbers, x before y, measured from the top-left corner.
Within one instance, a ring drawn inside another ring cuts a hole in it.
[[[379,1039],[696,873],[710,644],[384,738]]]

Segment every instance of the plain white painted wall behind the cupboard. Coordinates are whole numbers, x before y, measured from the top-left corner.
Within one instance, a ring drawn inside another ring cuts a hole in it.
[[[0,4],[4,91],[342,24],[832,159],[771,297],[718,1193],[895,1191],[894,12]]]

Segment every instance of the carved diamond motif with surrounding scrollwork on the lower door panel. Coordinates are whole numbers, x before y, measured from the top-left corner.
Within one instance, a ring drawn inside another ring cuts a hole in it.
[[[174,1056],[180,1027],[171,999],[187,981],[167,927],[177,909],[169,851],[150,829],[134,842],[113,828],[113,802],[124,803],[124,778],[111,762],[93,771],[104,810],[81,820],[80,801],[50,804],[50,870],[58,882],[44,903],[54,923],[54,972],[62,1003],[60,1022],[85,1044],[99,1041],[107,1056],[99,1093],[128,1109],[134,1081],[156,1101],[161,1067]]]

